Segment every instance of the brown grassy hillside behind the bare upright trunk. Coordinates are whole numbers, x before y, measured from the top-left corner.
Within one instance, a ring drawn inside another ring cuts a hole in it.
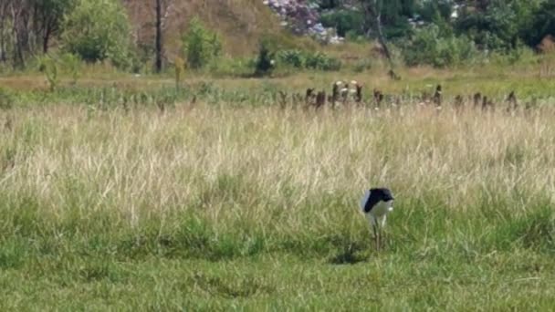
[[[124,0],[140,44],[154,41],[154,1]],[[265,32],[282,33],[278,17],[260,0],[190,0],[175,1],[167,10],[165,47],[168,57],[179,48],[180,36],[188,21],[199,16],[207,26],[215,29],[224,40],[225,53],[241,56],[254,52],[258,38]]]

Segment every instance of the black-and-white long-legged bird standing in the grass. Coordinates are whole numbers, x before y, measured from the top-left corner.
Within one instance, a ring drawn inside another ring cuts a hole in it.
[[[364,192],[361,199],[361,212],[372,225],[376,250],[380,251],[382,234],[387,214],[393,212],[393,193],[390,189],[379,187]]]

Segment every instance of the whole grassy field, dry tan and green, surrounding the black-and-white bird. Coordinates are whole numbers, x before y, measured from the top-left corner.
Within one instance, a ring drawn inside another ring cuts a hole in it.
[[[310,75],[290,78],[293,88],[332,81]],[[466,75],[369,79],[391,91],[446,81],[447,95],[482,87],[498,99],[515,86],[549,96],[553,84]],[[515,114],[408,103],[317,113],[237,105],[268,82],[229,79],[215,86],[233,97],[162,113],[32,105],[24,85],[35,79],[4,81],[22,98],[0,110],[1,310],[555,305],[550,98]],[[379,254],[358,210],[375,185],[396,197]]]

